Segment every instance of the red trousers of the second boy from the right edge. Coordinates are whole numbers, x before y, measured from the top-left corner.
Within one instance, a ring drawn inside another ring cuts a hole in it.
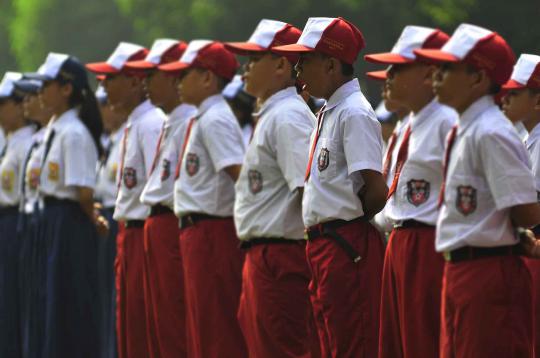
[[[444,267],[441,358],[533,357],[532,287],[518,256]]]

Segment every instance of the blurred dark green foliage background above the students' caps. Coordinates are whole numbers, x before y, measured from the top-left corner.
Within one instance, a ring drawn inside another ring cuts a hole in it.
[[[119,41],[245,40],[261,18],[303,28],[310,16],[343,16],[363,32],[363,53],[389,50],[408,24],[451,33],[470,22],[503,35],[516,54],[540,54],[540,0],[0,0],[0,68],[32,71],[50,51],[106,59]],[[357,72],[372,65],[359,60]],[[376,96],[376,84],[369,84]]]

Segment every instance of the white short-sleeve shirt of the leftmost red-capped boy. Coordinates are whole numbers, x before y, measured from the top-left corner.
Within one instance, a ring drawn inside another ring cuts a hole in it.
[[[124,130],[127,137],[122,136],[120,144],[115,220],[144,220],[150,214],[150,208],[141,203],[140,197],[150,175],[159,133],[166,118],[165,113],[149,100],[129,115]]]

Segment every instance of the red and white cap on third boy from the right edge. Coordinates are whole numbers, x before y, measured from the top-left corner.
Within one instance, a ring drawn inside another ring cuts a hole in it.
[[[450,38],[438,29],[422,26],[406,26],[391,52],[375,53],[364,56],[366,61],[395,65],[416,61],[414,50],[440,49]]]

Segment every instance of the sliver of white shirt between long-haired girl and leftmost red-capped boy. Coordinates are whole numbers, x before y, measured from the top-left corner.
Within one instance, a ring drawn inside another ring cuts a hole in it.
[[[98,179],[95,196],[105,208],[112,208],[116,204],[118,193],[118,167],[120,166],[120,146],[124,135],[124,123],[119,129],[111,133],[108,140],[109,154],[105,161],[98,165]]]

